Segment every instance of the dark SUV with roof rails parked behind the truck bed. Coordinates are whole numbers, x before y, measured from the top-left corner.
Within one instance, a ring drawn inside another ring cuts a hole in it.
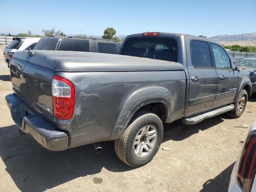
[[[82,51],[118,54],[122,43],[116,40],[86,37],[45,37],[34,50]]]

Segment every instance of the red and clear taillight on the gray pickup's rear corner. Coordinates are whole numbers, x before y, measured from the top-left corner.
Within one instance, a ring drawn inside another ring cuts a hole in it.
[[[73,116],[75,102],[74,84],[66,78],[53,76],[52,101],[54,116],[67,120]]]

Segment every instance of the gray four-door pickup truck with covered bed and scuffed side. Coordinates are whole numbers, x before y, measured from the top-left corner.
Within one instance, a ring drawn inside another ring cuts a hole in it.
[[[6,102],[18,133],[53,151],[91,143],[99,151],[98,142],[115,140],[120,160],[139,167],[158,151],[163,122],[238,118],[252,93],[249,72],[206,38],[133,34],[120,54],[16,52]]]

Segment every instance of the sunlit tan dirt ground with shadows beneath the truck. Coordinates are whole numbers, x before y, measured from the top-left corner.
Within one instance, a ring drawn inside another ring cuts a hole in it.
[[[6,94],[12,93],[10,71],[0,46],[0,191],[3,192],[225,192],[234,162],[256,120],[256,97],[239,119],[226,114],[193,126],[180,121],[164,125],[161,147],[149,164],[130,168],[115,154],[113,142],[61,152],[44,149],[31,136],[17,136]],[[202,132],[198,133],[198,129]]]

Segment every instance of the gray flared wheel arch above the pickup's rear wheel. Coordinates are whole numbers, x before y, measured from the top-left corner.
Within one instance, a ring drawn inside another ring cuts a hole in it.
[[[164,104],[167,112],[165,122],[170,122],[173,113],[170,92],[160,86],[141,88],[133,92],[126,100],[109,139],[116,140],[120,138],[135,112],[142,106],[155,102]]]

